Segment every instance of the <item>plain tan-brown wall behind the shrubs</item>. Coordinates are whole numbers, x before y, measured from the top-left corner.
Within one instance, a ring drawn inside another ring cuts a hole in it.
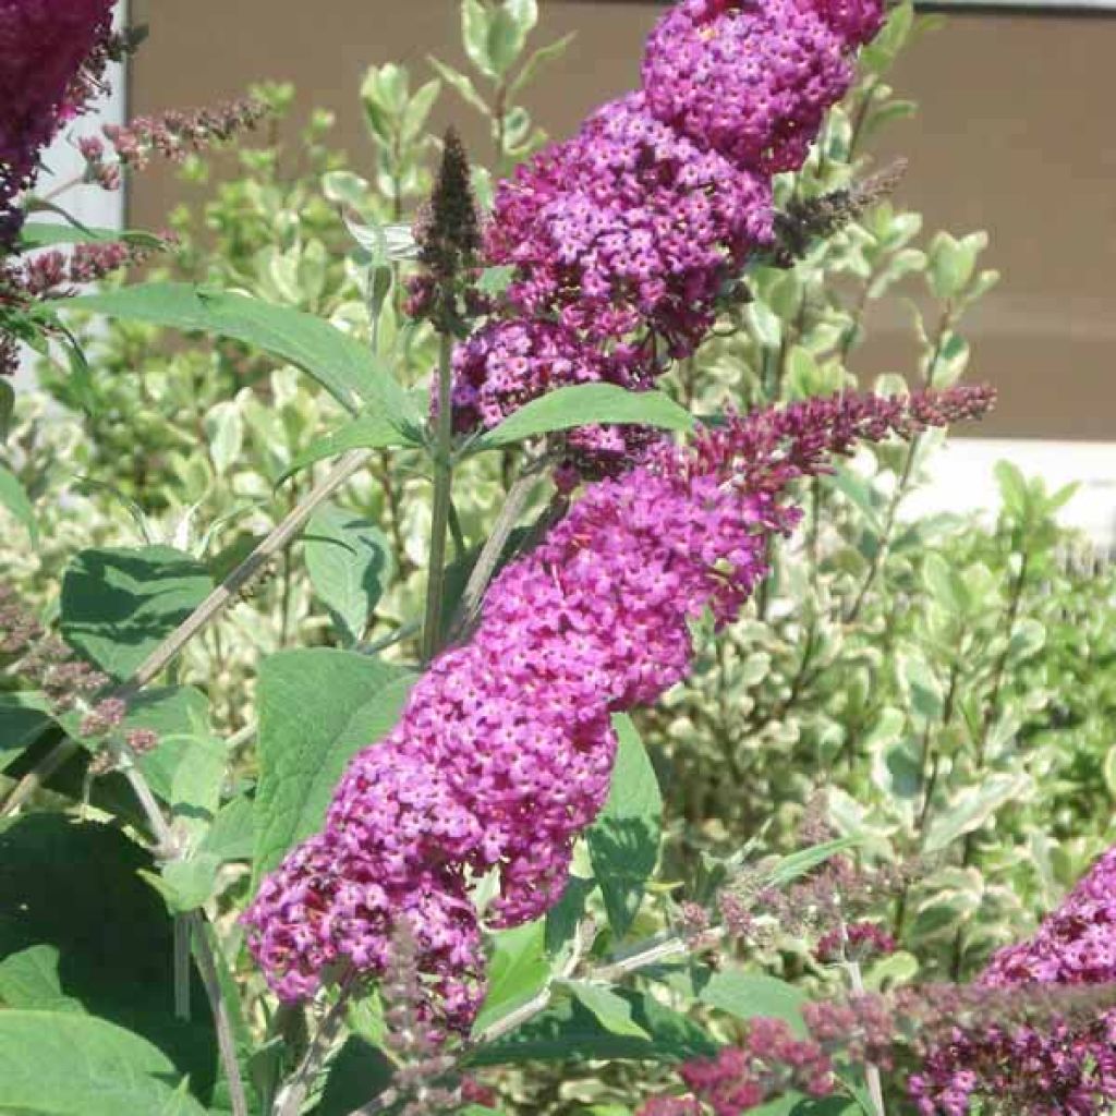
[[[235,96],[262,78],[294,80],[304,104],[338,117],[338,140],[367,157],[356,99],[371,62],[422,71],[433,51],[460,61],[455,0],[133,0],[152,35],[133,76],[133,110]],[[555,134],[637,80],[658,6],[543,0],[543,35],[578,31],[537,87]],[[281,12],[281,15],[279,15]],[[922,106],[894,125],[889,147],[911,160],[902,201],[930,228],[992,235],[1002,287],[969,327],[973,374],[1001,405],[988,433],[1116,439],[1116,16],[956,16],[907,55],[896,85]],[[443,98],[473,144],[471,109]],[[133,220],[155,227],[176,195],[165,174],[138,185]],[[867,373],[910,367],[901,320],[872,323]]]

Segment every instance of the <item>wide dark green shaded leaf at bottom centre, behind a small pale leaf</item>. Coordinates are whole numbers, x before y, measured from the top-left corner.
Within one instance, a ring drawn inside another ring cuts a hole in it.
[[[716,1054],[716,1043],[685,1016],[650,995],[631,991],[616,994],[632,1004],[632,1020],[650,1038],[614,1035],[584,1004],[564,1000],[510,1035],[473,1051],[469,1064],[600,1059],[677,1062]]]

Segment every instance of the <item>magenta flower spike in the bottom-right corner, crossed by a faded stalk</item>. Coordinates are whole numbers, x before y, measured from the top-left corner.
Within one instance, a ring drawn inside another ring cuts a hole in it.
[[[1116,983],[1116,848],[1109,849],[1029,941],[1000,950],[989,989]],[[1093,1116],[1116,1100],[1116,1011],[1088,1023],[997,1024],[959,1031],[910,1080],[925,1116],[964,1116],[978,1097],[1010,1098],[1029,1116]]]

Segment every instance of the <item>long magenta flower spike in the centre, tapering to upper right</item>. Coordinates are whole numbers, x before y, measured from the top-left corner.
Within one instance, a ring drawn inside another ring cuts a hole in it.
[[[788,485],[858,440],[913,436],[989,402],[980,388],[807,401],[589,485],[493,583],[472,641],[440,655],[395,730],[352,761],[325,829],[262,884],[246,922],[272,988],[298,999],[327,970],[383,973],[405,917],[436,1010],[466,1028],[482,995],[473,883],[497,874],[491,926],[558,899],[608,791],[612,714],[685,676],[706,608],[722,624],[739,614],[768,539],[798,520]]]

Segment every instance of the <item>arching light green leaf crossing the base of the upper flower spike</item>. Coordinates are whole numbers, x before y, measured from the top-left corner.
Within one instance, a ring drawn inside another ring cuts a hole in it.
[[[537,434],[596,423],[691,431],[694,419],[662,392],[628,392],[615,384],[574,384],[520,407],[479,437],[475,449],[494,450]]]

